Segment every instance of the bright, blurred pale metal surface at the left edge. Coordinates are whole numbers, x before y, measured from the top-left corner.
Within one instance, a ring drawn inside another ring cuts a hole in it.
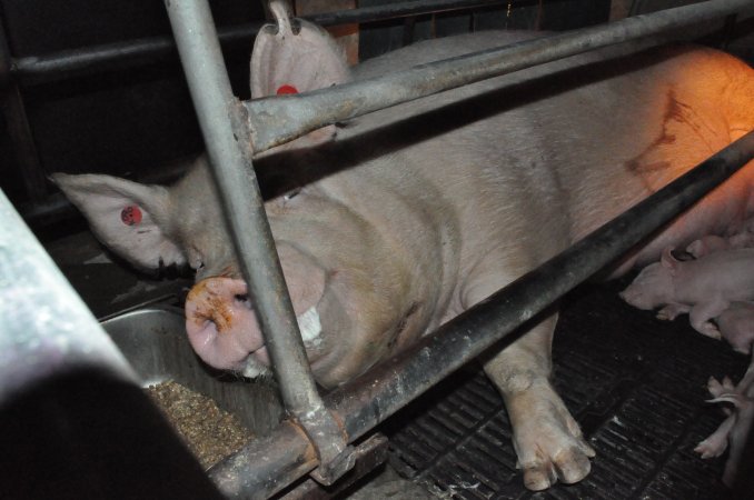
[[[112,340],[0,190],[0,403],[71,369],[136,382]]]

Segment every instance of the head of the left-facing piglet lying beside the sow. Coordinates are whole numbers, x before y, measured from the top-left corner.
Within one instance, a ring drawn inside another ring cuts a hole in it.
[[[621,292],[623,300],[643,310],[673,302],[675,298],[674,277],[681,262],[666,248],[659,262],[642,269],[634,281]]]

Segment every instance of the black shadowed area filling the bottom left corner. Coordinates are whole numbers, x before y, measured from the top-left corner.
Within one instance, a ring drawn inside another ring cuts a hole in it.
[[[87,368],[0,407],[0,498],[221,499],[137,386]]]

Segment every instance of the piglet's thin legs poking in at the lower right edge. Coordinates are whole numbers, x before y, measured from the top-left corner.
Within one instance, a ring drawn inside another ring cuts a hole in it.
[[[744,447],[752,430],[752,422],[754,422],[754,360],[736,387],[733,387],[733,382],[727,377],[725,377],[723,383],[711,377],[707,389],[714,398],[708,402],[727,402],[732,403],[733,408],[724,408],[728,417],[715,432],[700,442],[694,451],[701,453],[702,458],[705,459],[720,457],[730,444],[731,452],[725,462],[723,482],[733,487]]]

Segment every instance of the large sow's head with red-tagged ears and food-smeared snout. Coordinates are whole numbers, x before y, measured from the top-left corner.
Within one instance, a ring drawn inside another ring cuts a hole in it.
[[[318,28],[302,22],[296,36],[287,31],[290,27],[282,28],[267,28],[257,39],[254,98],[346,80],[339,50]],[[281,148],[311,148],[329,140],[334,130],[315,131]],[[196,270],[197,283],[186,303],[187,332],[207,363],[247,376],[267,370],[264,338],[204,157],[167,188],[98,174],[52,178],[99,240],[136,267],[187,263]],[[421,270],[401,259],[404,250],[394,238],[380,236],[318,184],[275,198],[266,210],[307,354],[321,384],[331,387],[359,374],[423,332],[427,312],[419,297],[426,290],[414,284]]]

